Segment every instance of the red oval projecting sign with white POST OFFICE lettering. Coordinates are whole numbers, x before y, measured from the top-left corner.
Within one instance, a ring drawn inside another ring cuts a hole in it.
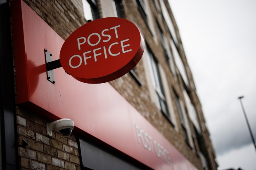
[[[75,79],[104,83],[129,72],[140,61],[145,43],[138,28],[121,18],[102,18],[79,27],[60,51],[63,69]]]

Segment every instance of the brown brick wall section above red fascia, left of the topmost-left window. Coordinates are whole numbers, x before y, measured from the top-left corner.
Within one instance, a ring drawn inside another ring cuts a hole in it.
[[[82,0],[24,0],[64,40],[87,21]]]

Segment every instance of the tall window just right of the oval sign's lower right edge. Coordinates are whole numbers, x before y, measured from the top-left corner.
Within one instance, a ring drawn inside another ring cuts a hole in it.
[[[159,74],[158,62],[156,61],[156,58],[153,56],[152,51],[149,48],[147,48],[147,50],[149,52],[149,62],[153,78],[153,85],[159,99],[160,109],[164,113],[164,115],[167,116],[168,119],[170,119],[170,114],[168,112],[166,98],[164,95],[164,88]]]

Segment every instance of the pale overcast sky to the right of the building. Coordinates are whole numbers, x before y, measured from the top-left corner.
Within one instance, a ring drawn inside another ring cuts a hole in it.
[[[256,0],[169,0],[219,170],[256,170]]]

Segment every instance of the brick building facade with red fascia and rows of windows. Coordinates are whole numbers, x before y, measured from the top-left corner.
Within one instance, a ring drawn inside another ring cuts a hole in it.
[[[217,169],[168,0],[2,0],[0,13],[2,169]],[[137,26],[140,62],[109,83],[62,68],[50,82],[46,52],[58,60],[74,30],[104,17]],[[47,123],[63,118],[72,134],[48,136]]]

